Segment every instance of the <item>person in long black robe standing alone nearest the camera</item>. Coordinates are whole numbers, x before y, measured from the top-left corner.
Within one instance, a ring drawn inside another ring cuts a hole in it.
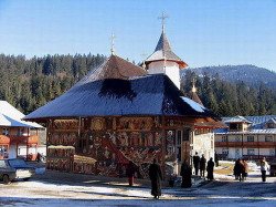
[[[156,158],[153,159],[153,164],[149,166],[149,178],[151,180],[151,195],[159,199],[159,196],[161,196],[162,172]]]

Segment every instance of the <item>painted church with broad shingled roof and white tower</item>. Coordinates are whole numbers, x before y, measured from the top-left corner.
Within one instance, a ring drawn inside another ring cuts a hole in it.
[[[169,163],[191,161],[197,128],[211,132],[220,118],[180,91],[179,70],[187,64],[164,30],[145,64],[147,70],[112,54],[24,117],[46,123],[47,169],[125,176],[131,161],[137,176],[147,178],[153,158],[167,175]]]

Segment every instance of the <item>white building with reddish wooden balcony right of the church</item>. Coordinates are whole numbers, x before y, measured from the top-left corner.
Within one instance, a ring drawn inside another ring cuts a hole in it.
[[[276,115],[223,117],[229,128],[215,131],[215,151],[223,158],[275,158]]]

